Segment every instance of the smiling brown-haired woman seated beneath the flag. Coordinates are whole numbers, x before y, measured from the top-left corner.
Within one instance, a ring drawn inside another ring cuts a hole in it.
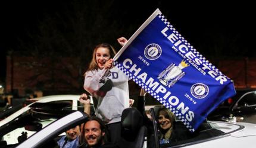
[[[159,139],[160,144],[170,143],[170,141],[174,137],[173,123],[175,121],[175,116],[173,112],[171,112],[165,107],[161,107],[158,110],[157,118],[158,118],[158,127],[161,132],[160,139]]]

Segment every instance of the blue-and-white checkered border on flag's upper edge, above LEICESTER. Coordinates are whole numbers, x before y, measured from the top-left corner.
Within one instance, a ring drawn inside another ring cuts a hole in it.
[[[170,30],[173,31],[173,33],[180,38],[180,40],[186,44],[186,46],[198,57],[198,59],[200,59],[203,63],[205,63],[205,65],[207,65],[208,67],[210,67],[211,69],[213,69],[216,73],[218,73],[221,76],[224,76],[227,79],[227,76],[223,75],[223,73],[220,72],[220,70],[217,69],[217,67],[215,67],[212,63],[210,63],[208,60],[205,59],[205,57],[202,56],[202,54],[200,54],[196,49],[193,48],[193,46],[191,46],[190,43],[188,43],[187,40],[185,40],[184,37],[182,37],[181,34],[179,34],[179,32],[173,27],[173,25],[170,24],[170,22],[167,21],[167,19],[164,17],[164,15],[159,14],[158,15],[159,18],[161,18],[161,21],[164,22],[164,24],[166,24],[166,26],[168,28],[170,28]]]

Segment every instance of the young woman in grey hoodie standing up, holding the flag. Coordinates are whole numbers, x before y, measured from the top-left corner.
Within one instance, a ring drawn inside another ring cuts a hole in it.
[[[123,46],[126,38],[118,38]],[[95,114],[107,124],[111,141],[121,135],[121,113],[129,107],[129,77],[113,66],[114,48],[107,43],[98,44],[85,73],[84,88],[98,100]]]

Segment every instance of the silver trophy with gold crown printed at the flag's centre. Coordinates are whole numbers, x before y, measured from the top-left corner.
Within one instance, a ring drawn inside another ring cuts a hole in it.
[[[188,63],[185,63],[183,60],[180,62],[179,66],[175,66],[174,63],[171,63],[171,65],[158,75],[157,79],[163,85],[170,88],[185,75],[185,72],[182,72],[182,69],[188,66]]]

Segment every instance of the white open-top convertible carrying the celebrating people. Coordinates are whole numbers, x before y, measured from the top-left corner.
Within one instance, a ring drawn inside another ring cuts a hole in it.
[[[136,117],[136,116],[138,115],[137,114],[129,115],[129,118]],[[10,144],[10,145],[5,144],[5,145],[2,145],[2,147],[13,147],[13,146],[56,147],[57,140],[60,139],[60,134],[63,133],[63,131],[85,122],[86,118],[87,118],[87,115],[84,114],[83,112],[79,112],[79,111],[73,112],[53,122],[52,124],[49,124],[49,126],[43,128],[38,133],[34,134],[33,136],[29,137],[29,139],[21,143]],[[136,118],[136,120],[138,120],[138,118]],[[122,121],[124,120],[122,119]],[[133,124],[135,120],[130,120],[130,121],[132,121],[131,124]],[[127,125],[127,120],[125,124]],[[174,123],[174,124],[180,124],[180,121],[177,121],[177,123]],[[124,124],[122,123],[122,125]],[[144,127],[142,124],[136,124],[130,127],[132,128],[138,127],[136,128],[138,129],[136,130],[136,132],[135,131],[133,131],[133,133],[128,132],[129,134],[132,134],[128,137],[135,137],[135,139],[126,140],[125,137],[127,137],[127,135],[122,136],[123,144],[119,145],[121,148],[131,147],[131,146],[138,147],[138,148],[139,147],[157,147],[157,148],[158,147],[232,147],[232,148],[255,147],[256,124],[205,121],[198,128],[196,133],[192,134],[192,136],[189,137],[189,139],[168,143],[168,144],[159,144],[158,137],[157,137],[158,130],[156,126],[154,126],[154,129],[152,131],[152,134],[154,135],[152,139],[149,139],[149,135],[146,135],[145,132],[141,132],[143,131],[143,127]],[[130,130],[129,128],[126,128],[126,132],[127,130]],[[148,128],[148,130],[150,129]],[[176,130],[180,130],[183,136],[184,134],[189,134],[189,133],[186,133],[185,129],[182,126],[180,126],[180,129],[176,128]],[[139,140],[141,139],[141,137],[143,137],[143,139]]]

